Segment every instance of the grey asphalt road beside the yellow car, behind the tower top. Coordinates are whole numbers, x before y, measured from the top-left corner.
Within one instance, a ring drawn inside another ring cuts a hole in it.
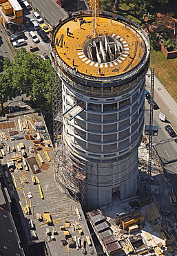
[[[41,16],[43,16],[51,26],[67,15],[67,12],[54,0],[32,0],[32,6],[41,11]]]

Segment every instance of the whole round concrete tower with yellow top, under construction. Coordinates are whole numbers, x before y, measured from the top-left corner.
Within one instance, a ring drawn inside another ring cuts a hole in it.
[[[50,44],[63,100],[56,180],[87,209],[136,194],[149,67],[149,39],[140,26],[100,12],[93,35],[92,22],[90,11],[72,13],[54,26]],[[59,121],[57,115],[59,109]]]

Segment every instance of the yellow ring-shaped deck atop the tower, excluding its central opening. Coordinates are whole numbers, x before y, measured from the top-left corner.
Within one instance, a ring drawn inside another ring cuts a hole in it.
[[[98,17],[98,33],[121,42],[123,51],[112,62],[98,63],[89,60],[83,51],[83,46],[92,37],[92,17],[83,17],[83,19],[86,23],[82,24],[81,28],[79,19],[67,21],[59,28],[55,36],[55,42],[56,39],[59,42],[55,46],[56,51],[68,66],[73,68],[74,64],[76,69],[85,75],[107,77],[129,71],[142,60],[145,53],[145,43],[136,32],[137,28],[131,28],[128,24],[106,17]],[[70,35],[67,35],[67,28],[70,30]],[[60,40],[62,35],[63,46],[61,46]],[[101,72],[98,72],[99,68]]]

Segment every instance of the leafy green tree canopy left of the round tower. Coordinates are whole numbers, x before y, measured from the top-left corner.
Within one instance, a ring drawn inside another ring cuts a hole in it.
[[[13,61],[6,58],[0,73],[1,109],[3,103],[14,98],[16,91],[30,96],[39,107],[51,109],[52,86],[59,78],[52,68],[50,59],[43,60],[36,53],[28,53],[25,48],[15,53]]]

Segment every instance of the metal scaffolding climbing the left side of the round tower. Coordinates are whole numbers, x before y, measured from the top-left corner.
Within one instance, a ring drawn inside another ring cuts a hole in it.
[[[53,87],[53,131],[54,131],[54,176],[63,193],[80,201],[85,206],[85,161],[77,158],[67,149],[63,140],[61,81]]]

